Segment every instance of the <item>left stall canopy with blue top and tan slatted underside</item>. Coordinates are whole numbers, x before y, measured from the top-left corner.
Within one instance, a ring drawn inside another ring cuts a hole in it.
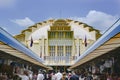
[[[0,28],[0,51],[29,61],[41,67],[48,68],[43,64],[44,61],[40,57],[38,57],[34,52],[13,38],[2,28]]]

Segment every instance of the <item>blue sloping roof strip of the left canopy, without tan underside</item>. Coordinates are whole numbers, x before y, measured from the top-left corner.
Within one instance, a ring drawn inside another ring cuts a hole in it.
[[[0,41],[4,42],[5,44],[13,47],[14,49],[20,52],[23,52],[23,54],[30,56],[31,58],[37,60],[38,62],[43,63],[43,60],[40,57],[38,57],[34,52],[32,52],[27,47],[25,47],[15,38],[13,38],[12,35],[10,35],[8,32],[3,30],[1,27],[0,27]]]

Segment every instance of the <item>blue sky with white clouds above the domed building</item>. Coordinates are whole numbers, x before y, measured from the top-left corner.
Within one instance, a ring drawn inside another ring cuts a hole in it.
[[[52,18],[78,20],[103,33],[120,18],[120,0],[0,0],[0,27],[12,35]]]

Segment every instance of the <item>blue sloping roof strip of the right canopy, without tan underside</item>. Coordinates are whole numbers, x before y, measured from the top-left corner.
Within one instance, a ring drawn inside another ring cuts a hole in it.
[[[118,33],[120,33],[120,18],[91,47],[81,54],[75,63],[79,62],[82,58],[90,54]]]

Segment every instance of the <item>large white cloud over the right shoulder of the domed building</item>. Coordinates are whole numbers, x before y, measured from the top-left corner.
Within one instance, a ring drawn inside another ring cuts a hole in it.
[[[91,10],[85,17],[72,17],[70,19],[87,23],[103,33],[118,19],[118,16]]]

